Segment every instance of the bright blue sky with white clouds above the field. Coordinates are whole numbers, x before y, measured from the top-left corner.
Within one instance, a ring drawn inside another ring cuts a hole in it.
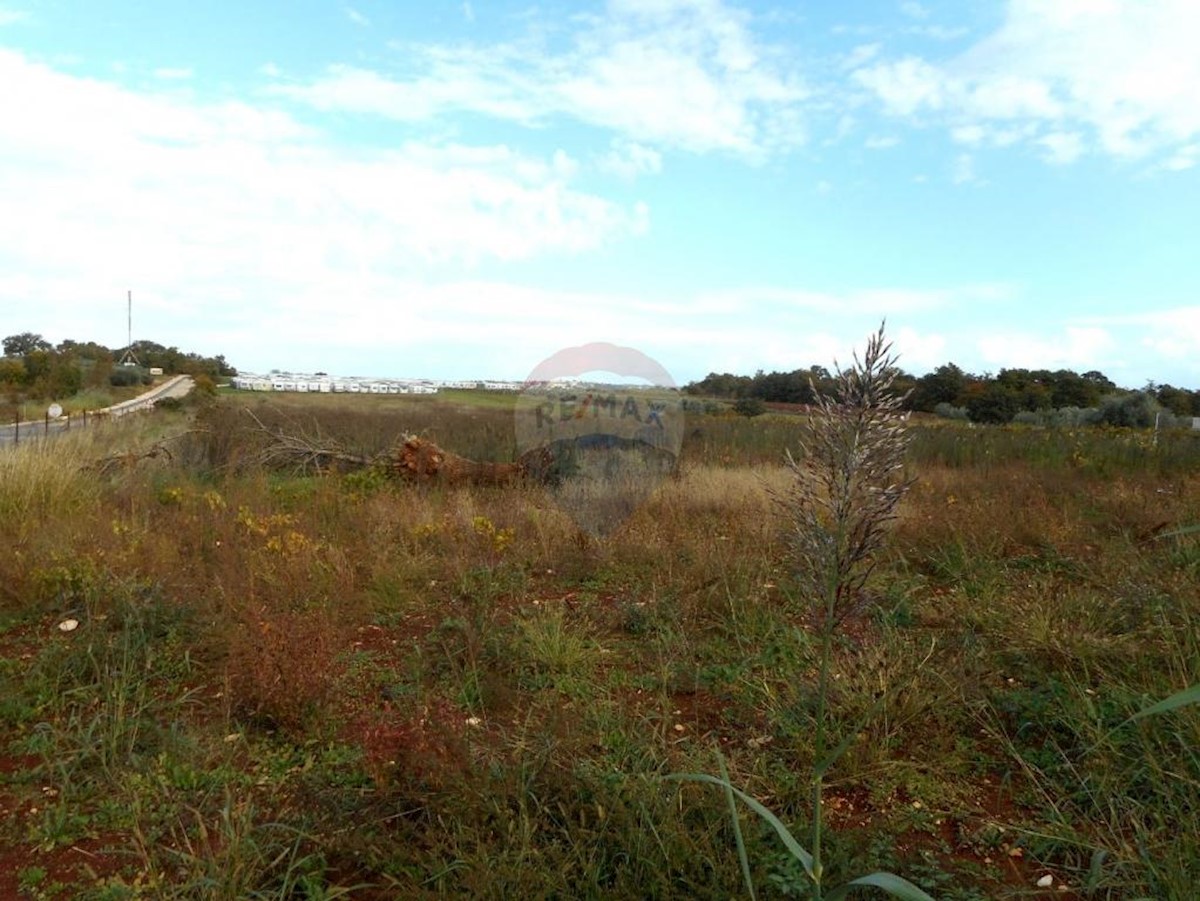
[[[1200,388],[1195,0],[0,0],[0,331]]]

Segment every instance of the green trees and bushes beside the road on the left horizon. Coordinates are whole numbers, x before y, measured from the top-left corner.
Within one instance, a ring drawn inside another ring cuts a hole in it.
[[[0,342],[0,391],[11,401],[70,397],[89,388],[132,385],[149,382],[151,368],[167,376],[236,376],[223,355],[203,356],[178,347],[163,347],[154,341],[137,341],[130,348],[139,365],[121,366],[125,350],[97,344],[95,341],[70,338],[52,344],[41,335],[22,332]]]

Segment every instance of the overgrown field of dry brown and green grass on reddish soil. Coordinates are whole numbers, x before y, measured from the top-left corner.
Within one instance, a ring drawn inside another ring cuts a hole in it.
[[[247,407],[512,459],[474,398],[227,396],[0,453],[0,897],[732,897],[725,798],[661,779],[718,755],[803,834],[818,649],[773,500],[799,419],[689,419],[605,541],[536,486],[254,465]],[[1200,683],[1200,442],[913,432],[839,635],[826,867],[1194,897],[1200,708],[1128,720]],[[743,813],[760,896],[803,896]]]

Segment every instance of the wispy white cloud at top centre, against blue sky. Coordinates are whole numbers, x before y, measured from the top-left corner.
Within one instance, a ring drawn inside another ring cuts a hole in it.
[[[403,74],[332,66],[276,90],[319,109],[426,121],[457,112],[522,124],[568,116],[643,143],[746,157],[804,140],[810,94],[791,60],[719,0],[610,0],[571,47],[406,46]]]

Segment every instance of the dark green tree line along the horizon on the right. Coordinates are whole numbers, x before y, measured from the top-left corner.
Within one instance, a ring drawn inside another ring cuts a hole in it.
[[[1130,391],[1118,388],[1103,372],[1072,370],[1001,370],[974,374],[954,364],[925,376],[898,371],[895,389],[907,394],[910,410],[938,413],[973,422],[1045,422],[1082,425],[1153,425],[1154,416],[1200,416],[1200,390],[1148,384]],[[740,409],[755,403],[808,404],[815,392],[829,392],[833,374],[823,366],[754,376],[710,372],[684,388],[690,395],[738,401]],[[746,403],[750,402],[750,403]],[[1148,421],[1147,421],[1148,420]]]

